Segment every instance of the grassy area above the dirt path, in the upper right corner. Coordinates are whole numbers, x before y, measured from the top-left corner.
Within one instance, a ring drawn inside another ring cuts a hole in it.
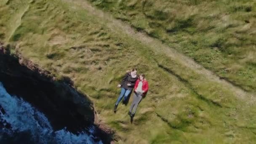
[[[256,90],[253,0],[91,0],[204,67]]]

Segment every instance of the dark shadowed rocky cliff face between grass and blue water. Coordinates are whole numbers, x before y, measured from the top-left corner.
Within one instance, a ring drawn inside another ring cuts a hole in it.
[[[0,82],[8,93],[21,96],[43,112],[55,130],[66,127],[68,131],[77,133],[95,124],[92,102],[72,87],[69,78],[55,80],[50,72],[24,59],[20,54],[11,56],[2,43]],[[99,127],[96,128],[96,135],[104,143],[112,140],[111,132],[102,131]]]

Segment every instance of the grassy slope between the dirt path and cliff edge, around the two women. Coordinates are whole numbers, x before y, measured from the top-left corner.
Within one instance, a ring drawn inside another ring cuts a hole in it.
[[[179,61],[108,29],[80,5],[1,1],[0,32],[0,40],[19,47],[25,57],[58,78],[74,80],[94,101],[100,119],[121,136],[120,143],[256,141],[256,106],[248,103],[250,98],[235,97]],[[150,91],[131,125],[129,105],[120,105],[117,114],[112,109],[117,83],[135,66],[146,73]]]

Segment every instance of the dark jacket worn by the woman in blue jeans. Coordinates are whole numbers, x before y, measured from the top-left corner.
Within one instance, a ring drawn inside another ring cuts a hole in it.
[[[130,90],[132,91],[135,85],[135,82],[138,78],[137,77],[131,77],[131,72],[128,72],[125,74],[125,76],[123,77],[123,80],[121,82],[120,85],[122,85],[122,88],[126,89],[126,90]],[[130,83],[131,86],[128,86],[127,84]]]

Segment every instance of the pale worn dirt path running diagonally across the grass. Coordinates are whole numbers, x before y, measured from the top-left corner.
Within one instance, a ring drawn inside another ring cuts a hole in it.
[[[163,44],[160,40],[149,37],[148,35],[142,32],[136,32],[135,29],[133,29],[129,24],[126,24],[123,21],[115,19],[111,14],[107,12],[101,11],[93,7],[89,2],[85,0],[65,0],[65,1],[68,3],[73,3],[73,4],[82,6],[91,15],[94,15],[102,19],[103,21],[101,22],[106,24],[109,27],[109,29],[113,30],[113,32],[117,30],[124,32],[125,34],[133,37],[133,39],[139,40],[144,45],[147,45],[148,47],[152,48],[152,50],[155,51],[156,53],[164,53],[166,56],[169,56],[171,59],[178,61],[180,64],[184,65],[185,67],[189,67],[190,69],[194,70],[197,74],[208,77],[208,80],[217,82],[222,86],[229,88],[229,90],[233,91],[236,96],[240,98],[245,98],[250,96],[251,100],[254,99],[254,96],[252,93],[247,93],[243,91],[243,89],[233,85],[227,80],[221,79],[220,77],[215,75],[213,72],[209,71],[208,69],[205,69],[200,64],[197,64],[191,58],[184,56],[183,54],[179,53],[175,49],[169,47],[168,45]]]

